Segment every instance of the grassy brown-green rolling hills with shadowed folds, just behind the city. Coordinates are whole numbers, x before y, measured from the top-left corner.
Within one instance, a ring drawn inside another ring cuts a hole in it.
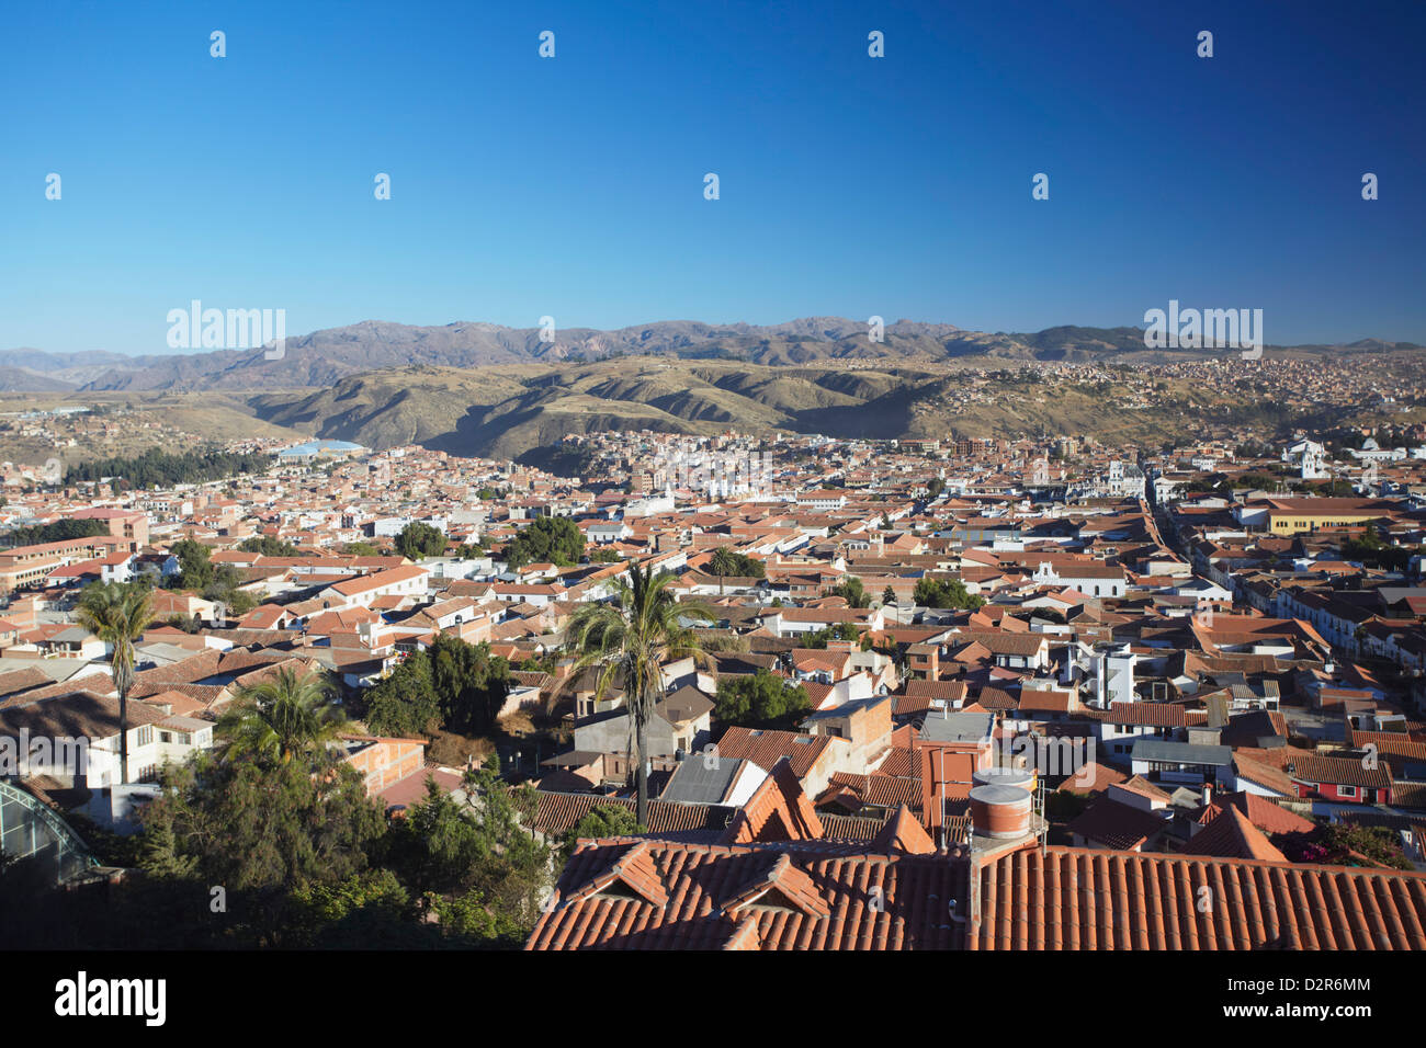
[[[1291,418],[1268,411],[1251,388],[1208,389],[1181,379],[1161,385],[1156,409],[1114,409],[1134,404],[1142,391],[1122,381],[1057,382],[1051,391],[1004,365],[787,366],[630,356],[396,368],[317,392],[258,394],[248,405],[265,422],[371,448],[415,442],[453,455],[532,462],[569,433],[606,429],[871,439],[1092,432],[1105,441],[1155,443],[1228,413],[1266,426]],[[974,398],[965,395],[970,388]]]

